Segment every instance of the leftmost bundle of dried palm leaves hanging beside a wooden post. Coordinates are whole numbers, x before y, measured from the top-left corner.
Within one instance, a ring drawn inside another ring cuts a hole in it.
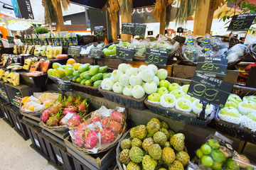
[[[45,0],[44,1],[44,8],[45,8],[45,22],[48,25],[52,25],[52,23],[56,23],[58,25],[58,17],[55,11],[55,8],[53,7],[53,3],[51,0]]]

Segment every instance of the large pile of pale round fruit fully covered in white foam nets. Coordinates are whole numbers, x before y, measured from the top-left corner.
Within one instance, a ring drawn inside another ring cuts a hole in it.
[[[145,94],[156,93],[159,80],[166,79],[167,75],[166,69],[158,69],[154,64],[141,65],[138,69],[123,63],[110,78],[102,81],[101,86],[103,90],[142,98]]]

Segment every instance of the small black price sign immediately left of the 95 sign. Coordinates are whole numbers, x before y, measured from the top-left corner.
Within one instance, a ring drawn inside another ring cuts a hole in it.
[[[133,57],[134,57],[133,47],[123,47],[123,46],[117,45],[117,58],[132,62]]]

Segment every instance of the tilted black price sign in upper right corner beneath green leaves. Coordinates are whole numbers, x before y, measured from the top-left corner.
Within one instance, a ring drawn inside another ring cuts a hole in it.
[[[244,13],[232,17],[228,30],[249,30],[256,13]]]

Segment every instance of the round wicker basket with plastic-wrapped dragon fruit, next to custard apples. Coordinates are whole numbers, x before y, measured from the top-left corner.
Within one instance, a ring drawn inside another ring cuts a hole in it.
[[[86,154],[105,152],[119,142],[127,128],[125,108],[115,110],[102,106],[86,115],[75,130],[71,130],[73,145]]]

